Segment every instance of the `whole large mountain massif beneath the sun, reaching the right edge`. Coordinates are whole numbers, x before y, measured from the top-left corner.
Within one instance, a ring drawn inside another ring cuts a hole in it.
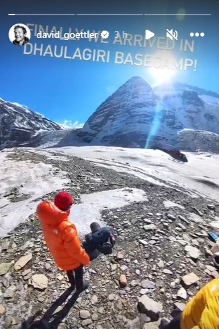
[[[219,133],[219,95],[179,83],[152,89],[132,77],[100,104],[78,135],[91,144],[176,146],[182,129]]]

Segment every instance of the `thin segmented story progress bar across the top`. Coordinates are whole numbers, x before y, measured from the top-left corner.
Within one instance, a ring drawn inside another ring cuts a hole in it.
[[[8,16],[211,16],[211,14],[8,14]]]

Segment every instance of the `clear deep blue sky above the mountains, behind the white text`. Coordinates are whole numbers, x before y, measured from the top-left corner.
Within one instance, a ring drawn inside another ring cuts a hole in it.
[[[46,2],[46,3],[45,3]],[[189,2],[189,6],[186,3]],[[204,1],[203,1],[204,2]],[[52,1],[17,1],[1,0],[1,48],[0,59],[0,97],[11,102],[26,104],[33,111],[42,113],[56,122],[85,122],[96,108],[109,95],[116,91],[121,84],[130,77],[139,75],[146,79],[150,85],[159,84],[162,79],[155,77],[149,68],[131,66],[130,64],[114,64],[111,60],[116,51],[125,54],[135,53],[154,55],[158,50],[112,44],[114,31],[125,31],[132,35],[144,35],[145,30],[155,32],[155,37],[166,37],[166,28],[177,30],[178,39],[188,39],[190,32],[204,32],[205,36],[193,38],[195,40],[194,52],[179,52],[179,44],[171,55],[177,59],[188,57],[198,60],[197,70],[175,71],[170,81],[181,81],[200,88],[206,88],[219,93],[219,66],[218,66],[218,33],[216,24],[219,18],[219,1],[211,0],[207,4],[201,1],[133,1],[125,7],[119,1],[95,4],[95,1],[61,1],[62,6]],[[147,4],[146,4],[147,3]],[[175,16],[164,17],[74,17],[74,16],[8,16],[8,12],[177,12],[184,8],[186,13],[211,13],[211,17],[185,17],[182,20]],[[64,32],[69,28],[84,30],[109,30],[109,44],[86,41],[64,41],[59,39],[37,39],[33,36],[31,44],[43,44],[53,48],[67,46],[68,54],[72,55],[77,47],[102,49],[110,51],[110,62],[79,61],[78,59],[55,58],[49,55],[24,55],[24,47],[14,46],[8,39],[8,30],[15,23],[32,23],[48,25],[49,28],[63,27]],[[176,43],[179,41],[175,41]]]

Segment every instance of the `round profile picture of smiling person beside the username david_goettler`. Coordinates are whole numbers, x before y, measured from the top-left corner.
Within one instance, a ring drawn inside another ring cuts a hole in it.
[[[30,40],[30,29],[25,24],[17,23],[10,28],[8,37],[15,46],[24,46]]]

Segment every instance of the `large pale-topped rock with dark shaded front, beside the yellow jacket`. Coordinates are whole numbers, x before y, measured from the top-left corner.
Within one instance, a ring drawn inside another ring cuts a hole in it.
[[[157,321],[159,319],[159,312],[163,310],[161,303],[157,303],[157,301],[145,295],[139,298],[137,307],[140,313],[146,314],[152,321]]]

